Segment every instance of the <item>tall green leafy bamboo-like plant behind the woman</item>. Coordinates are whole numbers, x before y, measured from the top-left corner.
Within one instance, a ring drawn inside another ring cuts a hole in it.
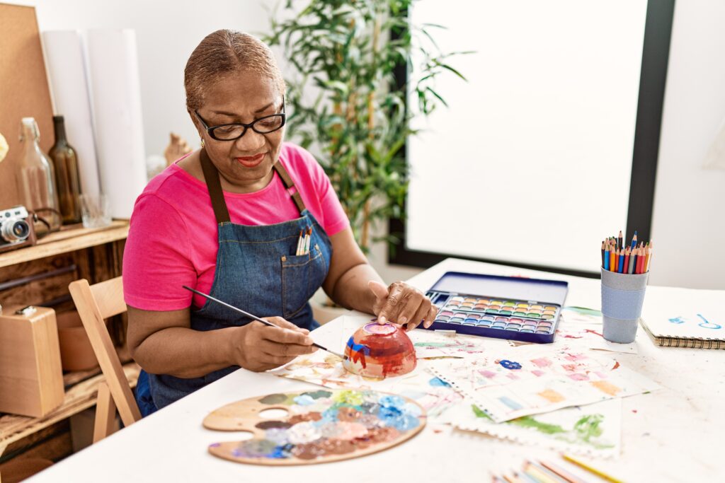
[[[309,0],[307,0],[309,1]],[[414,117],[446,104],[436,77],[464,52],[440,51],[433,32],[440,25],[410,25],[412,0],[312,0],[289,20],[271,18],[270,46],[281,46],[293,67],[287,76],[288,129],[312,148],[330,177],[360,248],[370,248],[371,225],[402,217],[408,167],[405,139],[415,135]],[[400,66],[421,59],[408,85]],[[406,106],[407,88],[417,106]],[[314,92],[315,96],[310,98]],[[416,109],[417,108],[417,109]],[[396,241],[386,237],[389,241]]]

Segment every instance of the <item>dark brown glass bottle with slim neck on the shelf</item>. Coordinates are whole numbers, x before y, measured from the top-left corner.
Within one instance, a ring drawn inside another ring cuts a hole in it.
[[[48,154],[53,160],[55,181],[58,188],[60,216],[64,224],[80,223],[80,176],[75,149],[65,138],[62,116],[53,116],[55,144]]]

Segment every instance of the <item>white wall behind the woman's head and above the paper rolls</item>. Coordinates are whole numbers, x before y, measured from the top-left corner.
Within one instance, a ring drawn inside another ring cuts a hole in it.
[[[136,30],[146,156],[163,154],[169,132],[191,146],[198,135],[186,114],[183,69],[194,47],[220,28],[259,33],[268,30],[264,0],[15,0],[36,7],[38,28]],[[59,113],[62,114],[62,113]],[[72,143],[72,140],[70,140]]]

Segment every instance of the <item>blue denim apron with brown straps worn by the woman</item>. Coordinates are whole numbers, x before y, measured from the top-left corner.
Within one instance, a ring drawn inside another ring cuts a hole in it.
[[[302,196],[294,188],[286,169],[279,161],[274,165],[278,177],[290,193],[290,202],[294,202],[299,210],[299,218],[247,226],[231,223],[219,172],[203,148],[201,159],[218,223],[219,251],[210,295],[256,316],[282,316],[298,327],[309,330],[318,327],[319,324],[312,319],[308,301],[327,277],[332,245],[325,230],[305,208]],[[278,181],[273,177],[271,182]],[[295,255],[299,232],[306,232],[308,227],[312,227],[310,251],[306,255]],[[209,300],[202,308],[191,312],[191,329],[194,330],[239,327],[249,322],[250,319]],[[149,374],[152,402],[157,408],[163,408],[236,369],[239,366],[230,366],[193,379]],[[141,401],[139,406],[142,406]],[[144,411],[142,408],[141,413],[153,410]]]

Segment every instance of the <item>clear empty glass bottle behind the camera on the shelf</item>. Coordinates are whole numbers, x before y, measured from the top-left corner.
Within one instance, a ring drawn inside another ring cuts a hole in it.
[[[55,191],[53,165],[38,145],[40,133],[33,117],[23,117],[20,122],[22,158],[17,167],[15,180],[22,197],[22,205],[35,211],[55,230],[60,227],[58,196]]]

